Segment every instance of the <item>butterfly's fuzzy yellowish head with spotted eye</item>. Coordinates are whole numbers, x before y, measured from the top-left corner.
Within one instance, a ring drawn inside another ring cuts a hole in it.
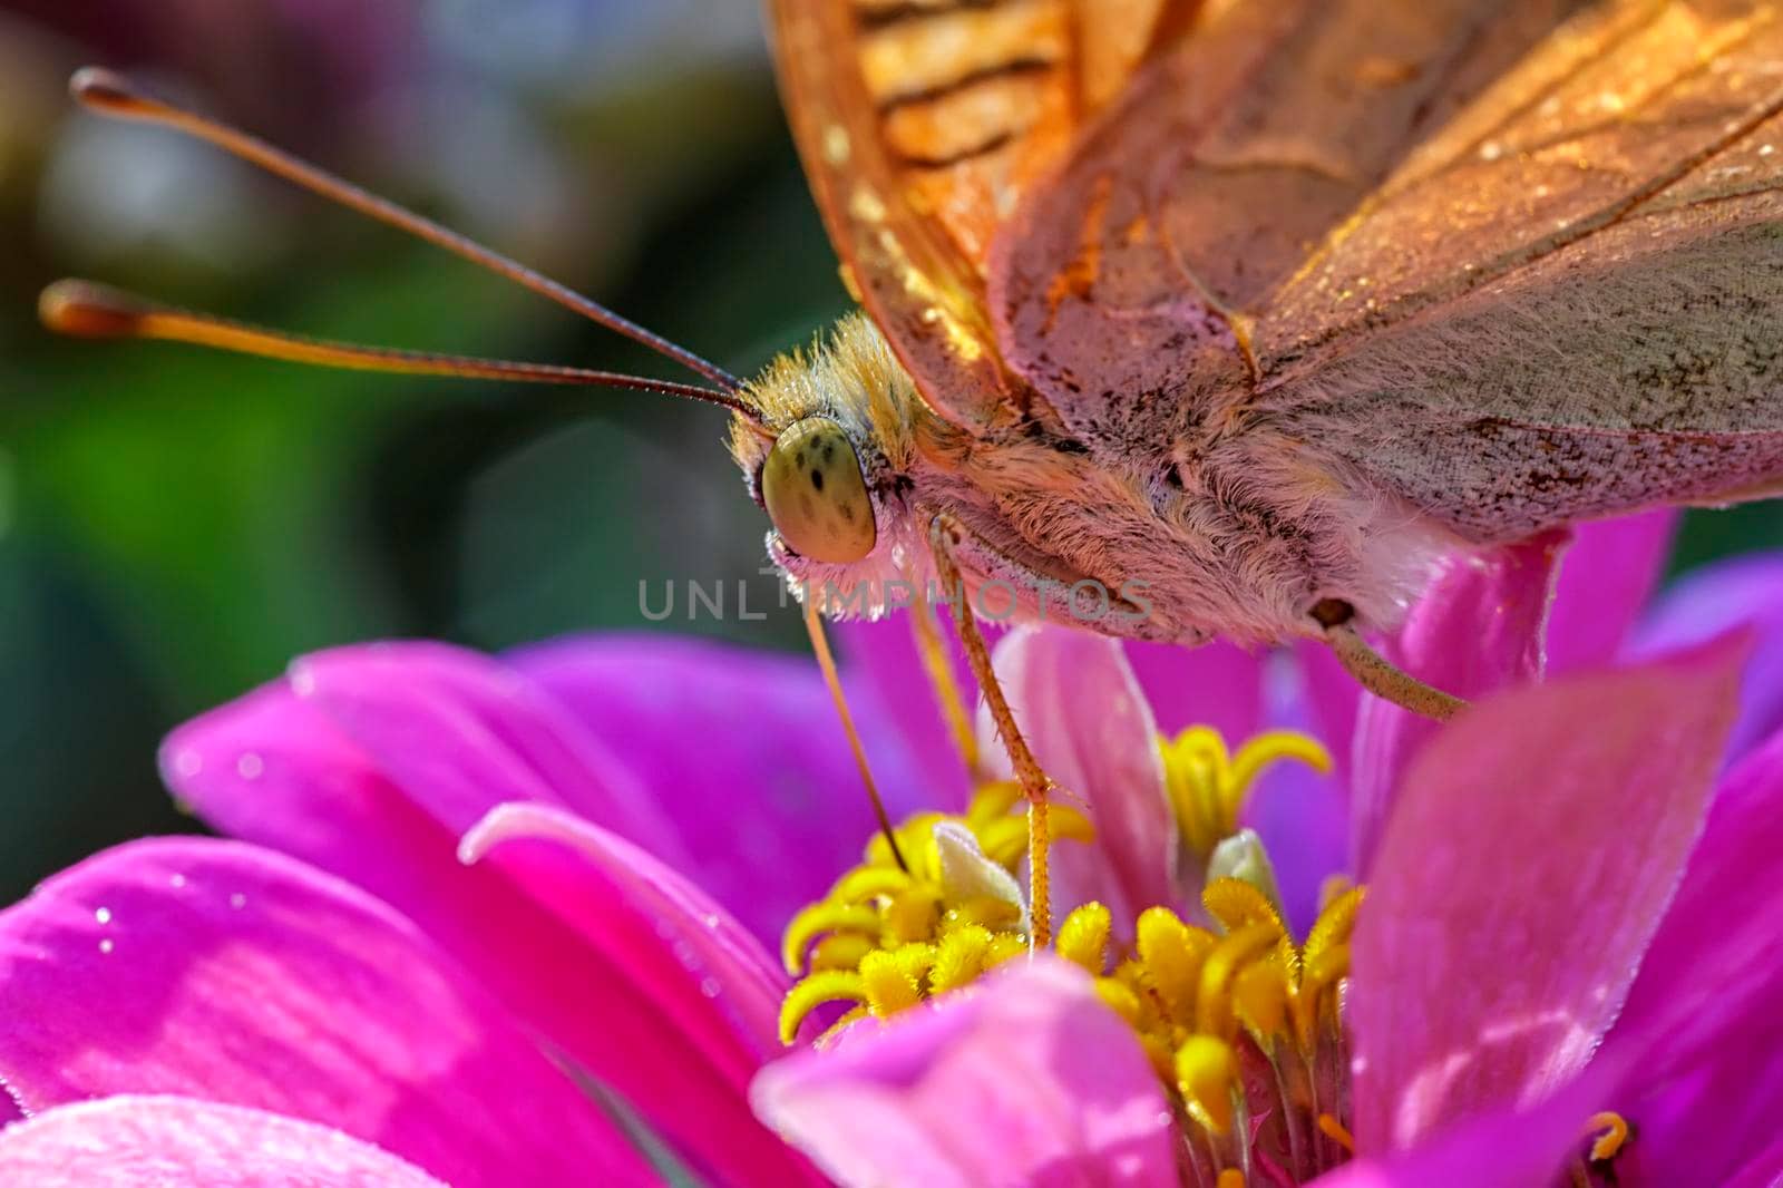
[[[920,400],[874,325],[843,318],[827,341],[776,359],[747,398],[761,421],[733,421],[731,453],[774,524],[774,562],[843,596],[863,576],[895,571]]]

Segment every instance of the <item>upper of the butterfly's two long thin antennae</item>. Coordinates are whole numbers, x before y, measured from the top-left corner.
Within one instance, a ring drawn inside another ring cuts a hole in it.
[[[431,244],[446,248],[448,252],[480,264],[497,276],[506,276],[514,284],[531,289],[533,293],[551,298],[558,305],[571,309],[588,321],[606,326],[608,330],[617,330],[633,342],[647,346],[649,350],[672,359],[683,367],[694,371],[695,375],[710,380],[713,385],[724,389],[726,392],[742,391],[742,380],[726,371],[724,367],[701,359],[694,351],[676,346],[669,339],[651,334],[644,326],[620,318],[613,310],[606,309],[599,301],[592,301],[574,289],[569,289],[549,276],[535,273],[517,260],[510,260],[499,252],[481,246],[465,239],[458,232],[435,223],[433,219],[423,218],[414,210],[407,210],[387,198],[378,198],[373,193],[353,186],[325,169],[319,169],[305,161],[292,157],[291,153],[267,144],[266,141],[239,132],[228,125],[209,120],[196,112],[175,107],[164,100],[153,98],[137,91],[127,78],[116,75],[109,70],[98,66],[87,66],[75,71],[73,78],[68,82],[68,91],[84,107],[96,111],[105,116],[116,116],[119,120],[139,120],[143,123],[160,125],[164,128],[173,128],[175,132],[184,132],[185,136],[196,137],[216,144],[223,152],[260,166],[267,173],[285,178],[294,186],[301,186],[312,193],[330,198],[344,207],[358,210],[360,214],[373,218],[387,227],[396,227],[410,235],[426,239]],[[751,412],[751,417],[758,414]]]

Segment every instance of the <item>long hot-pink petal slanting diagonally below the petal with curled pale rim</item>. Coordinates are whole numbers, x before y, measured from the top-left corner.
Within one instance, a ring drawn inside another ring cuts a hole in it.
[[[455,788],[394,787],[282,685],[175,731],[162,769],[216,828],[287,849],[396,904],[690,1158],[722,1167],[735,1149],[752,1152],[763,1177],[793,1174],[744,1099],[758,1036],[701,992],[708,974],[670,961],[660,938],[640,944],[640,929],[654,935],[654,924],[631,906],[615,904],[603,928],[583,929],[505,865],[460,865],[460,831],[449,821],[467,801]],[[697,1024],[692,1004],[706,1008]]]

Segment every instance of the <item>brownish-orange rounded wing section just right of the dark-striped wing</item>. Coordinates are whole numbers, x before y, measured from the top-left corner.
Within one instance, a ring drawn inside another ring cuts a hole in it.
[[[1079,433],[1161,441],[1257,378],[1271,289],[1578,0],[1239,0],[1139,71],[993,253],[1007,364]]]

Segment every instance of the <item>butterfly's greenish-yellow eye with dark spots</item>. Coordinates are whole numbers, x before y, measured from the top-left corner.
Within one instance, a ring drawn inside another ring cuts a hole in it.
[[[779,435],[761,467],[761,501],[802,557],[847,565],[874,551],[879,528],[861,460],[834,421],[811,417]]]

